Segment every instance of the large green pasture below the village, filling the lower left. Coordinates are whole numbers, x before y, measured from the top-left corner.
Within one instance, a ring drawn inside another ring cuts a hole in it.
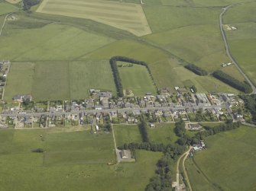
[[[6,191],[143,190],[161,157],[137,151],[135,163],[108,166],[115,160],[112,135],[89,131],[1,130],[0,148],[0,184]],[[34,148],[46,152],[32,153]]]

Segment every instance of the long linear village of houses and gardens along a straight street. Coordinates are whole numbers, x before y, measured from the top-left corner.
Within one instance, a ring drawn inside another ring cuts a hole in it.
[[[110,91],[90,89],[85,100],[34,102],[31,95],[17,95],[13,103],[2,104],[1,128],[50,128],[92,126],[95,131],[106,123],[139,123],[144,115],[148,125],[186,122],[186,129],[199,130],[203,122],[245,121],[244,102],[234,94],[195,94],[192,89],[161,89],[157,96],[115,97]],[[98,127],[96,129],[96,126]]]

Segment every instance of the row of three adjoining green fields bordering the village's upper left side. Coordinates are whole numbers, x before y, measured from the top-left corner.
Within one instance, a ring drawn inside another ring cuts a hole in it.
[[[90,88],[115,94],[108,61],[15,62],[8,75],[5,100],[11,101],[17,94],[31,94],[34,100],[83,99],[89,96]]]

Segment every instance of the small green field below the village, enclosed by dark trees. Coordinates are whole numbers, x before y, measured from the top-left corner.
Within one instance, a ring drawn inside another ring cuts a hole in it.
[[[150,141],[164,145],[176,142],[179,137],[175,134],[174,127],[173,123],[159,123],[154,128],[148,128]]]

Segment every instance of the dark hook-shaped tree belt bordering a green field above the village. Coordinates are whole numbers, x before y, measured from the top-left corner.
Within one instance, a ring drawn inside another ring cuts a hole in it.
[[[118,97],[124,97],[124,92],[123,92],[123,87],[122,87],[122,80],[120,78],[119,72],[118,72],[118,65],[117,62],[128,62],[131,64],[136,64],[136,65],[144,65],[147,68],[148,73],[151,75],[151,70],[148,67],[147,63],[144,61],[138,61],[135,59],[130,59],[125,56],[114,56],[109,60],[109,63],[112,68],[113,76],[114,76],[114,81],[115,81],[115,86],[118,92]],[[152,75],[151,75],[152,80],[154,81]]]

